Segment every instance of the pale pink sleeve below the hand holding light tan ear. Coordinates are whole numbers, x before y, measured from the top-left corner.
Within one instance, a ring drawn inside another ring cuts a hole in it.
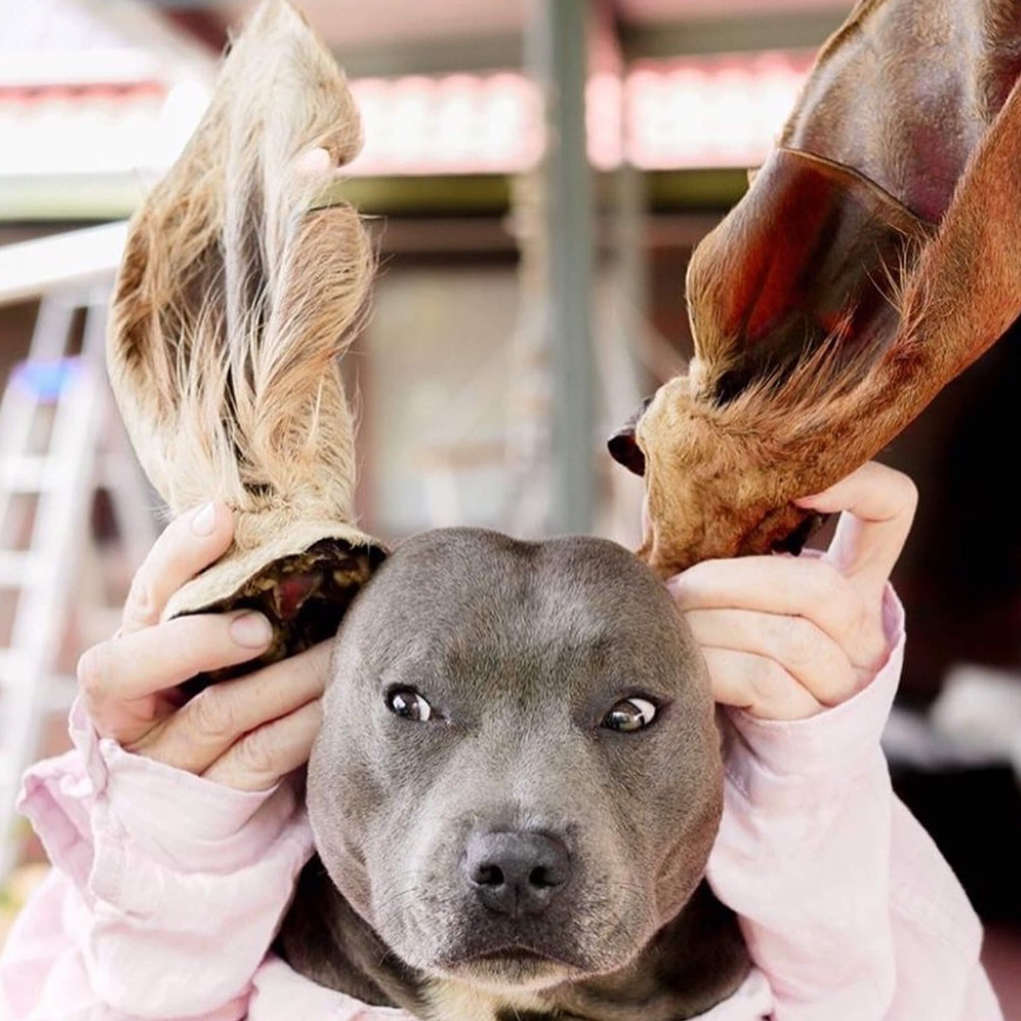
[[[291,786],[243,793],[131,755],[79,709],[71,737],[25,779],[55,868],[4,947],[0,1016],[243,1018],[311,852]]]

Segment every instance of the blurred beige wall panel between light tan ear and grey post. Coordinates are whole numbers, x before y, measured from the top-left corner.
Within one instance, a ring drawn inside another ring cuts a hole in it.
[[[422,531],[437,515],[451,516],[445,524],[504,523],[518,303],[513,265],[382,274],[353,368],[367,506],[383,534]]]

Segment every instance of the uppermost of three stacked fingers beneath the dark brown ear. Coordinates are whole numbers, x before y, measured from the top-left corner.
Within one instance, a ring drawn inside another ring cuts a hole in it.
[[[832,565],[794,556],[703,561],[667,586],[683,611],[753,610],[804,617],[841,648],[861,641],[866,624],[862,594]],[[875,638],[863,654],[876,654]],[[879,636],[879,651],[883,646]],[[859,665],[857,661],[854,661]]]

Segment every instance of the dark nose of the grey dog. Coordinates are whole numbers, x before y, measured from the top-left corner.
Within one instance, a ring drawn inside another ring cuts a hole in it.
[[[473,833],[464,866],[479,900],[515,918],[545,911],[571,876],[567,847],[543,833]]]

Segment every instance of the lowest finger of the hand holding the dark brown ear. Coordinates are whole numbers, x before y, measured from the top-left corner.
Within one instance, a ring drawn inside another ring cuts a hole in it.
[[[713,694],[725,706],[743,709],[764,720],[804,720],[822,711],[812,696],[776,661],[729,648],[702,649]]]

